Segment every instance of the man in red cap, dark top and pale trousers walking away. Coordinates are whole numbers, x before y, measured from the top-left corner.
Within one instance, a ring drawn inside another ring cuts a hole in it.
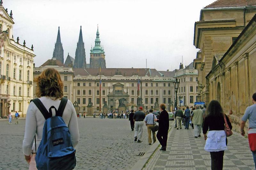
[[[133,121],[134,123],[134,141],[138,142],[142,142],[141,138],[142,138],[142,130],[143,130],[143,121],[145,118],[145,113],[142,112],[143,108],[140,106],[139,110],[137,112],[135,112],[135,114],[133,115]]]

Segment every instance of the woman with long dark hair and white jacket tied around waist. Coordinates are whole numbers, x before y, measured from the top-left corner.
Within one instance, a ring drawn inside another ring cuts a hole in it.
[[[225,133],[225,120],[232,129],[228,116],[223,113],[220,103],[212,100],[208,105],[204,119],[203,134],[206,140],[204,150],[210,152],[212,159],[212,170],[221,170],[223,168],[224,151],[227,150],[228,140]],[[208,134],[206,135],[209,129]]]

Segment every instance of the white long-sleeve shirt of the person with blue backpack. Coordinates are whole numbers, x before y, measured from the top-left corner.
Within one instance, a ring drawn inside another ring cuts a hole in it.
[[[41,97],[39,98],[41,102],[44,104],[44,107],[49,111],[51,106],[54,106],[56,109],[60,106],[60,100],[52,100],[50,97]],[[68,100],[67,105],[63,111],[62,118],[66,125],[68,126],[71,141],[73,147],[78,144],[79,141],[79,131],[78,131],[78,123],[76,118],[76,110]],[[38,148],[42,136],[43,136],[43,128],[44,128],[44,116],[36,107],[34,102],[31,102],[28,106],[27,115],[26,115],[26,125],[25,125],[25,135],[23,140],[23,153],[24,155],[30,155],[31,150],[35,153],[35,134],[36,134],[36,149]]]

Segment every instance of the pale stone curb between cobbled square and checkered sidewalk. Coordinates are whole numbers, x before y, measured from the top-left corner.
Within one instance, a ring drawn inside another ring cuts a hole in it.
[[[171,128],[169,129],[168,133],[170,132],[174,124],[175,124],[175,121],[171,123]],[[159,146],[160,146],[160,143],[156,139],[156,142],[149,148],[149,150],[142,157],[138,158],[138,161],[134,164],[131,170],[143,169],[144,165],[146,165],[147,161],[154,154],[154,152],[159,148]]]

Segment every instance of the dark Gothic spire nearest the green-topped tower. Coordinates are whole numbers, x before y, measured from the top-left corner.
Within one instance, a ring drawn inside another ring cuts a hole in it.
[[[76,55],[74,68],[86,68],[85,48],[82,35],[82,26],[80,26],[79,39],[76,46]]]

